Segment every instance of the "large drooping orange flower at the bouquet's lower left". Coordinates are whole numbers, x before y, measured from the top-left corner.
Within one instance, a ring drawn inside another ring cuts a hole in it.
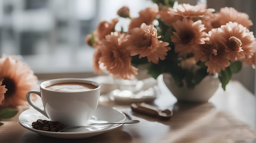
[[[103,63],[113,78],[132,79],[138,74],[137,68],[131,64],[132,58],[126,49],[126,34],[111,32],[102,40],[99,63]]]

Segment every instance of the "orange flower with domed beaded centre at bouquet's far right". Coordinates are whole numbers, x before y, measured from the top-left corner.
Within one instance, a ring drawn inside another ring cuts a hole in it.
[[[232,62],[245,57],[251,58],[255,52],[254,35],[246,27],[236,22],[220,26],[216,37],[225,46],[227,57]]]

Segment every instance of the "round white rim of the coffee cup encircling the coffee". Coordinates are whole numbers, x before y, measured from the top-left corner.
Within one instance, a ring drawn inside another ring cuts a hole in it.
[[[47,91],[52,91],[52,90],[46,89],[45,87],[47,87],[49,85],[62,83],[62,82],[59,82],[59,81],[64,81],[65,83],[67,83],[67,82],[88,83],[88,84],[95,85],[97,87],[95,89],[91,89],[91,90],[88,90],[88,91],[94,91],[94,90],[97,90],[101,87],[101,85],[98,82],[83,79],[83,78],[56,78],[56,79],[51,79],[51,80],[45,80],[44,82],[40,83],[40,89],[47,90]],[[52,82],[54,82],[54,83],[52,83]],[[45,85],[45,84],[48,84],[48,85]],[[88,92],[88,91],[71,91],[69,93]],[[62,91],[52,91],[52,92],[62,92]]]

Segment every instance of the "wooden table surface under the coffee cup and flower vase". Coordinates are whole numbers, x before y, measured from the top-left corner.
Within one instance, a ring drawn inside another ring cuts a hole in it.
[[[15,117],[1,120],[0,143],[253,143],[256,142],[255,98],[238,81],[231,81],[227,90],[221,87],[207,103],[178,103],[165,85],[152,103],[160,109],[170,109],[170,120],[135,113],[130,104],[117,104],[101,95],[100,105],[124,112],[139,124],[124,124],[120,128],[87,139],[46,137],[18,123],[18,115],[29,108],[20,106]]]

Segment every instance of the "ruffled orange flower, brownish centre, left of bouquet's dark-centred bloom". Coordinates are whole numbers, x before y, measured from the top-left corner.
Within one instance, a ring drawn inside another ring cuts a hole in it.
[[[159,58],[165,59],[167,51],[171,50],[167,47],[169,43],[159,41],[157,30],[153,25],[141,24],[140,28],[133,28],[128,35],[128,50],[130,56],[139,54],[139,58],[147,57],[148,62],[158,63]]]

